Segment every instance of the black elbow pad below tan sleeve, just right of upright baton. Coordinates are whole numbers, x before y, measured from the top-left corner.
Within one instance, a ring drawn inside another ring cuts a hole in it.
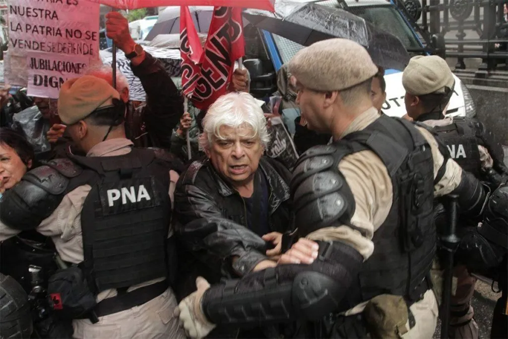
[[[461,214],[468,217],[478,217],[482,214],[487,204],[490,190],[480,180],[469,172],[462,171],[462,178],[459,186],[450,194],[459,196]]]

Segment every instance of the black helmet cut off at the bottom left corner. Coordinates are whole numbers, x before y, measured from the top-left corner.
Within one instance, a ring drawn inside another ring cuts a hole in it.
[[[32,330],[26,292],[11,276],[0,273],[0,338],[29,338]]]

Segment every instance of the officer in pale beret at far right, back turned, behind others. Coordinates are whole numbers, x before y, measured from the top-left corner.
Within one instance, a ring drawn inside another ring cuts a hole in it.
[[[402,84],[406,90],[404,101],[408,115],[432,128],[462,169],[490,182],[493,189],[499,186],[496,178],[508,171],[503,164],[502,148],[492,133],[477,119],[445,116],[455,86],[447,62],[437,55],[415,56],[404,70]],[[476,226],[478,221],[468,219],[461,223]],[[480,257],[484,259],[485,267],[496,266],[495,262],[489,261],[497,258],[485,254]],[[473,319],[471,306],[476,279],[465,265],[456,266],[454,276],[457,287],[451,299],[450,333],[454,338],[478,338],[478,325]]]

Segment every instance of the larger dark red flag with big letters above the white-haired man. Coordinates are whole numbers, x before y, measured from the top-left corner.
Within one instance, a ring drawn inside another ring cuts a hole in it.
[[[218,97],[226,93],[233,74],[234,62],[243,55],[245,41],[242,9],[215,7],[204,53],[201,55],[199,77],[187,76],[186,85],[194,88],[190,99],[195,107],[208,108]]]

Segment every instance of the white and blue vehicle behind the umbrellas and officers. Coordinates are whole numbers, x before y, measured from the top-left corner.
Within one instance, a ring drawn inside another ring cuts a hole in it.
[[[309,1],[301,0],[301,2]],[[404,14],[394,5],[393,0],[318,0],[315,2],[323,6],[339,6],[339,3],[345,3],[348,6],[348,11],[351,13],[364,18],[374,26],[399,38],[406,49],[410,51],[410,54],[417,55],[423,53],[423,44],[418,34],[411,27]],[[264,30],[261,31],[261,35],[266,52],[260,54],[266,53],[265,55],[270,59],[275,71],[278,71],[281,65],[288,63],[295,53],[303,48],[303,46],[293,41]],[[248,51],[246,52],[248,54]],[[263,56],[260,56],[260,58],[263,59]],[[269,72],[267,63],[264,62],[263,65],[265,66],[265,72],[263,73],[266,74]],[[475,116],[476,108],[469,90],[458,77],[454,77],[455,89],[447,109],[447,114],[453,116]],[[263,78],[263,76],[260,78]],[[383,112],[391,116],[401,117],[406,114],[402,71],[385,70],[385,81],[387,100],[383,106]],[[262,89],[257,90],[255,86],[254,91],[257,91],[258,97],[263,96]],[[256,93],[253,94],[256,95]]]

